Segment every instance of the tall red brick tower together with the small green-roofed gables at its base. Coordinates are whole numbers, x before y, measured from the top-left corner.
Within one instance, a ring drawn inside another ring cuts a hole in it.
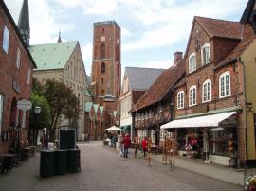
[[[104,129],[119,126],[120,31],[115,21],[94,23],[92,102],[85,103],[85,131],[92,140],[102,139]]]

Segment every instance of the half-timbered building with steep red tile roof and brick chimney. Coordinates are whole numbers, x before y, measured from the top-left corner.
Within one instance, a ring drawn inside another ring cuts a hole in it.
[[[160,125],[173,119],[173,87],[185,75],[182,52],[174,53],[174,65],[163,71],[132,109],[133,126],[137,137],[150,136],[155,145],[161,145],[163,130]]]

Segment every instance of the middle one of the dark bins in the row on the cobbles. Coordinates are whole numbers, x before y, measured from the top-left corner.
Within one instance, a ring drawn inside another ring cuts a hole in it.
[[[67,150],[56,150],[54,152],[54,174],[62,175],[66,173]]]

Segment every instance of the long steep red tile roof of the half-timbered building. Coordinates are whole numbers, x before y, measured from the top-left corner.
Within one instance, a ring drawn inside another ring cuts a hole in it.
[[[185,74],[185,60],[165,70],[153,83],[150,89],[138,99],[133,111],[150,106],[162,100],[174,87],[176,82]]]

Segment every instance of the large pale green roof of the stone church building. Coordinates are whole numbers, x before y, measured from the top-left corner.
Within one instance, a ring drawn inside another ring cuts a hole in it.
[[[78,41],[31,45],[30,53],[37,70],[63,69]]]

